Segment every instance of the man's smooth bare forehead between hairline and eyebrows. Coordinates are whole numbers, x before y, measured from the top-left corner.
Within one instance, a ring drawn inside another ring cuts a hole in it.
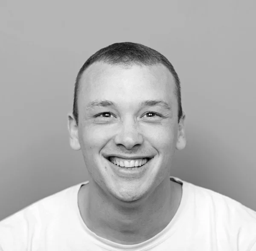
[[[139,99],[172,101],[175,80],[162,64],[122,67],[97,62],[83,72],[79,87],[79,105],[82,106],[95,99],[117,97],[122,97],[124,103]]]

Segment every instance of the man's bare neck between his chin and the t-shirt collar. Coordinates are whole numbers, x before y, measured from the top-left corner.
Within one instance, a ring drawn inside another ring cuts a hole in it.
[[[129,245],[162,231],[175,215],[182,194],[181,185],[169,177],[145,200],[135,203],[106,198],[91,179],[88,185],[79,191],[79,208],[87,227],[100,237]]]

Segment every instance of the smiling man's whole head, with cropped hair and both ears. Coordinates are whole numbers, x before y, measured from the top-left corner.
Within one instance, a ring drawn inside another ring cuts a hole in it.
[[[92,181],[122,201],[145,198],[169,179],[175,148],[186,145],[177,73],[137,43],[115,43],[84,63],[68,118],[70,145],[82,150]],[[111,156],[148,162],[131,170]]]

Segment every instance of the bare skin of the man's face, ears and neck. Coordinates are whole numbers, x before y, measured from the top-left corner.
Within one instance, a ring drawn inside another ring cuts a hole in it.
[[[79,190],[79,210],[84,223],[98,236],[137,244],[162,231],[177,212],[182,185],[169,179],[169,170],[175,150],[186,146],[186,138],[185,114],[178,124],[174,89],[174,78],[162,64],[124,68],[98,62],[83,73],[79,125],[69,113],[68,130],[70,146],[81,150],[90,174],[89,184]],[[86,109],[88,102],[104,99],[116,102],[118,108]],[[138,107],[148,99],[162,99],[172,111]],[[154,114],[150,116],[149,111]],[[104,114],[95,118],[99,113]],[[114,173],[104,157],[118,153],[154,159],[143,176],[131,178]]]

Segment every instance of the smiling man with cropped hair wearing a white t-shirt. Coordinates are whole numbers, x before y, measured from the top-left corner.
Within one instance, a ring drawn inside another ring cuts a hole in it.
[[[180,81],[159,52],[114,43],[80,69],[70,146],[89,180],[0,222],[3,251],[256,251],[256,212],[169,176],[186,146]]]

